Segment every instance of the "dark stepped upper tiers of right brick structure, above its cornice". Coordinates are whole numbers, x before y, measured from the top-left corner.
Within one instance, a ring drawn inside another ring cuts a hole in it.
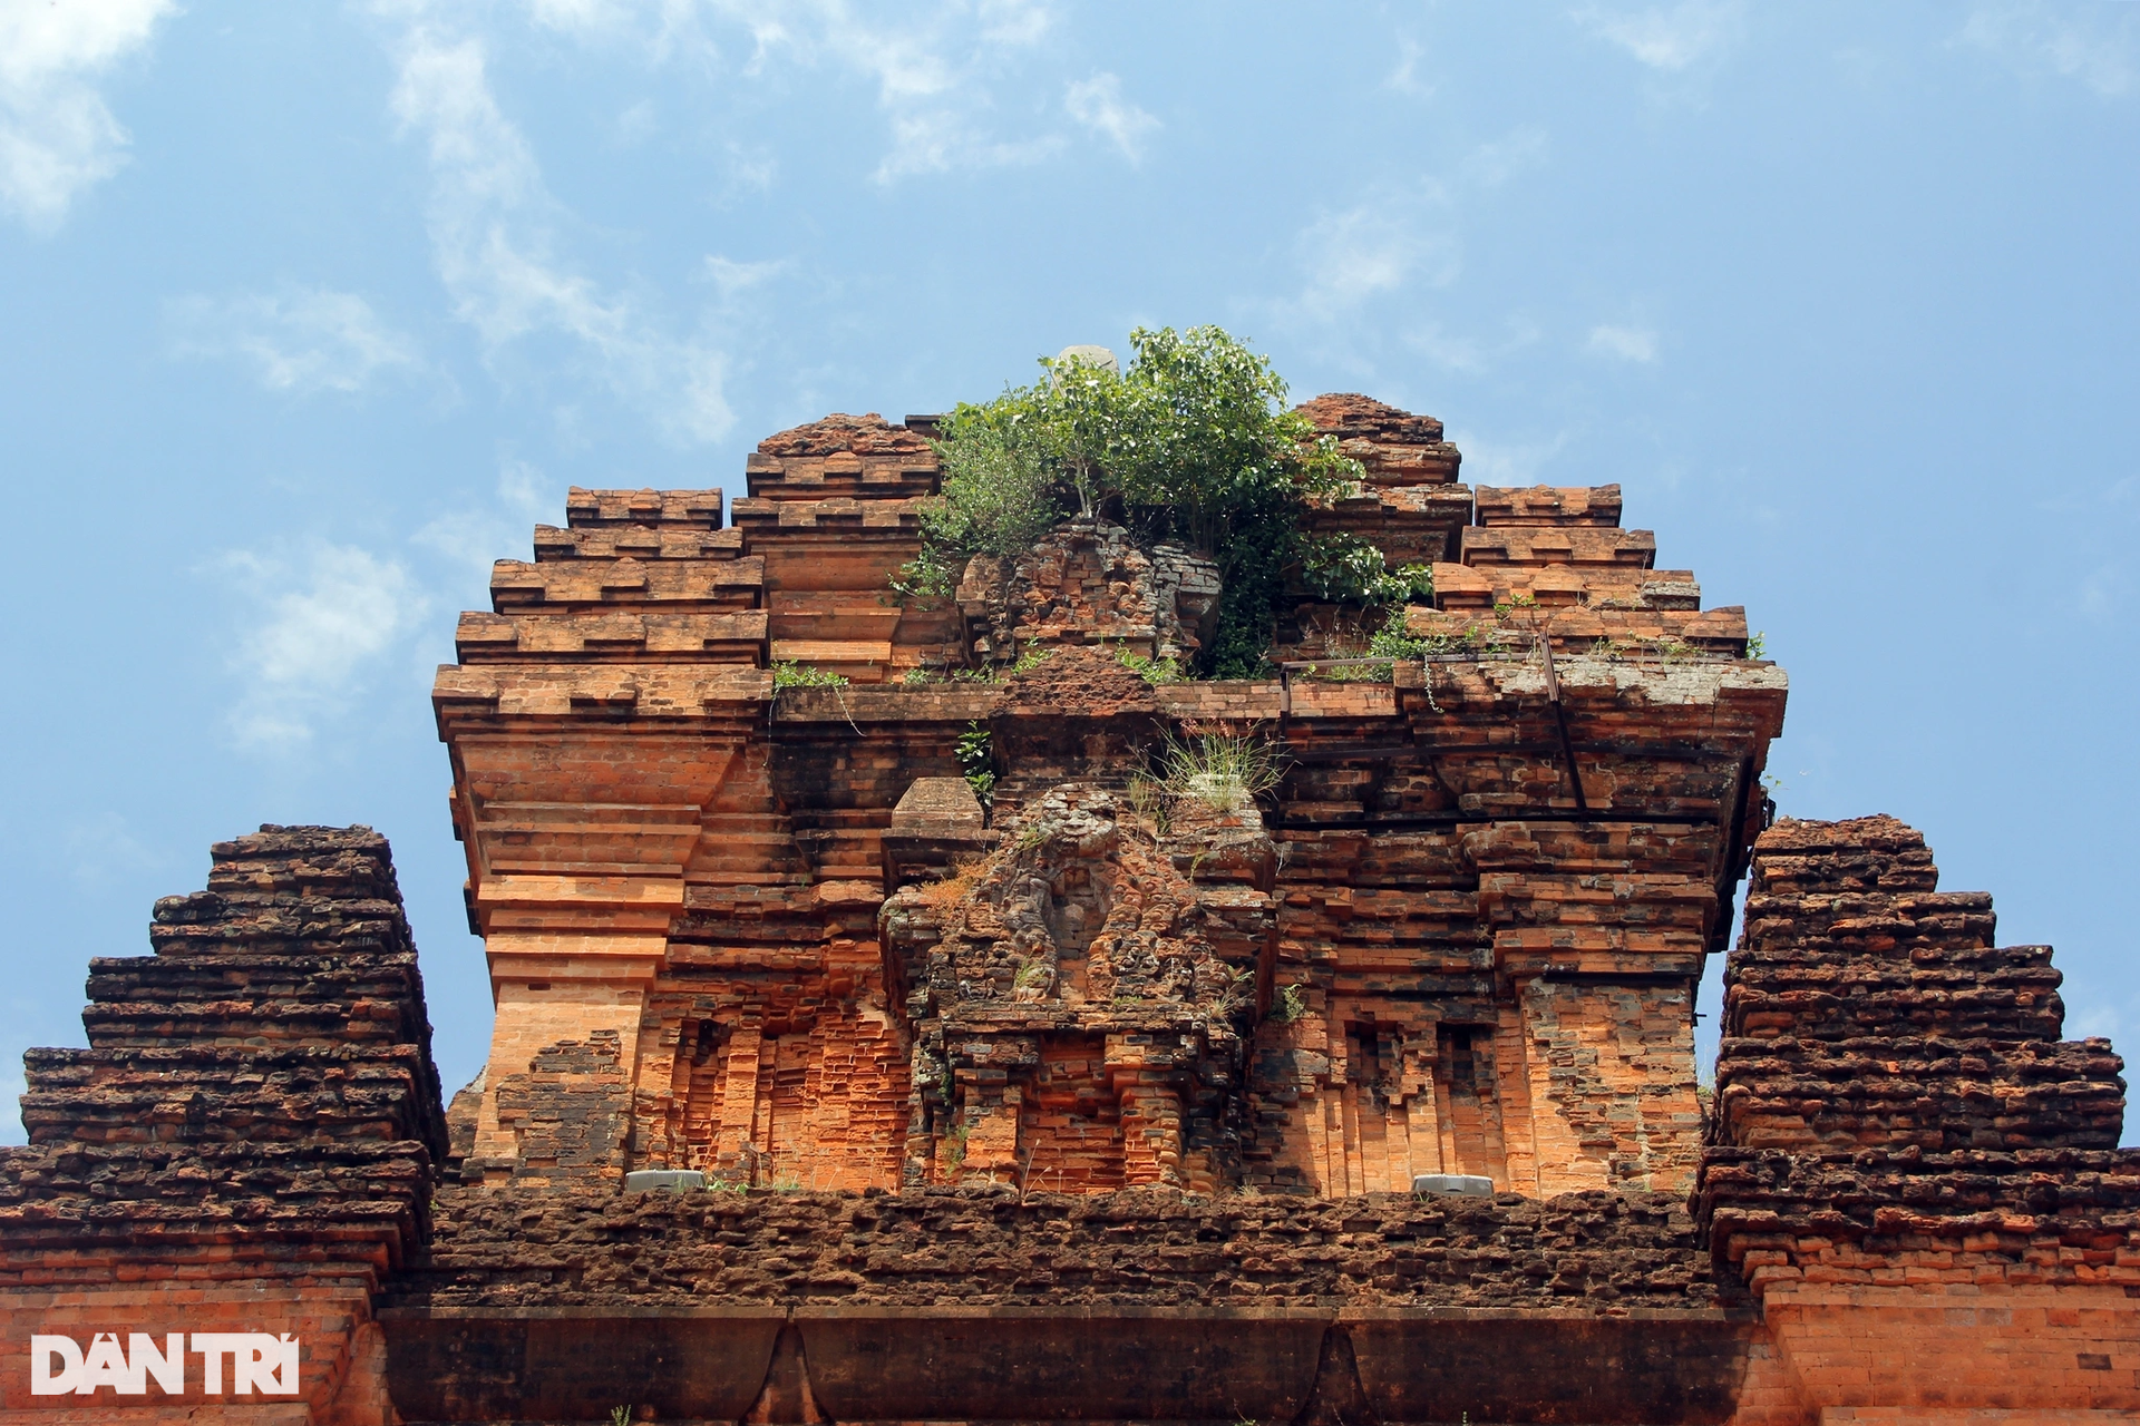
[[[2116,1148],[2123,1060],[2057,1039],[2050,947],[1994,947],[1892,817],[1761,836],[1725,973],[1718,1144],[1808,1154]]]

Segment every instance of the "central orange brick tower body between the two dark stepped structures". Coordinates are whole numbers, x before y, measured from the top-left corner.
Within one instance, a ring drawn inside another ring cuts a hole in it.
[[[1357,618],[1303,594],[1278,678],[1149,686],[1115,652],[1192,658],[1216,575],[1096,522],[1012,567],[974,560],[957,601],[897,599],[935,455],[875,417],[766,440],[734,530],[706,494],[574,494],[571,530],[499,567],[484,618],[516,639],[464,637],[437,695],[499,1003],[464,1174],[520,1172],[494,1086],[608,1030],[636,1095],[629,1167],[858,1189],[1061,1157],[1053,1172],[1079,1159],[1096,1189],[1684,1187],[1693,988],[1761,817],[1783,676],[1744,658],[1740,611],[1703,614],[1691,575],[1650,569],[1618,490],[1472,492],[1427,417],[1303,410],[1367,470],[1316,528],[1436,571],[1410,611],[1430,656],[1370,682],[1323,676],[1357,652]],[[758,669],[781,661],[854,682],[775,693]],[[1263,847],[1245,864],[1198,842],[1233,830],[1168,840],[1126,817],[1130,772],[1186,729],[1260,738],[1286,768],[1241,808]],[[987,823],[957,847],[899,834],[912,789],[969,772],[974,735]],[[1089,926],[1023,945],[965,904],[929,949],[942,928],[916,883],[995,857],[993,915],[1068,817],[1124,849],[1042,868]],[[1040,851],[1004,849],[1021,836]],[[1153,934],[1209,941],[1213,971],[1158,992],[1166,1024],[1130,1026],[1087,998],[1087,951],[1061,947],[1128,915],[1136,898],[1081,909],[1076,887],[1136,883],[1138,857],[1196,883],[1162,898],[1188,921]],[[905,911],[884,919],[890,904]],[[931,979],[931,956],[1002,975]],[[954,1003],[997,994],[987,1035],[950,1028]],[[961,1067],[984,1043],[993,1058]]]

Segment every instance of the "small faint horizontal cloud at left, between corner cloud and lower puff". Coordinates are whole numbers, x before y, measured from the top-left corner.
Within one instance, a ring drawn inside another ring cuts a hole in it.
[[[364,297],[323,286],[175,297],[165,323],[178,355],[235,357],[270,391],[362,391],[374,372],[424,363]]]

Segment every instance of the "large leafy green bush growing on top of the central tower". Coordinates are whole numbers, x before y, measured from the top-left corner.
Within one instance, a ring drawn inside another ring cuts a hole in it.
[[[1269,359],[1218,327],[1130,334],[1130,368],[1042,359],[1044,376],[987,404],[959,404],[935,443],[944,498],[922,517],[922,552],[892,588],[939,601],[976,554],[1006,560],[1070,515],[1119,520],[1143,541],[1183,541],[1220,567],[1218,633],[1198,673],[1263,667],[1286,577],[1323,599],[1419,596],[1425,569],[1391,573],[1352,534],[1310,534],[1316,498],[1363,479],[1359,462],[1286,408]]]

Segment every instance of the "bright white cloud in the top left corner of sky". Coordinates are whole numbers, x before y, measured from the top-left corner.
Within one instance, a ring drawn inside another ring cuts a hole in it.
[[[173,0],[0,0],[0,205],[51,231],[118,173],[126,128],[98,77],[150,41]]]

